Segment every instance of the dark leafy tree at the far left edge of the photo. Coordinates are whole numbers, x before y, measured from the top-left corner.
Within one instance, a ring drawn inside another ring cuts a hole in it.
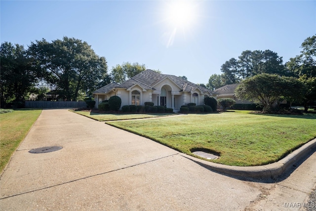
[[[40,71],[23,45],[4,42],[0,51],[0,99],[1,107],[5,107],[7,103],[25,100],[38,81]]]

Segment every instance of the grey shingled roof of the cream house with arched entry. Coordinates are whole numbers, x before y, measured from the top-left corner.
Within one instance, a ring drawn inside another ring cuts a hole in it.
[[[131,79],[128,79],[127,81],[123,82],[122,84],[116,84],[116,83],[111,83],[106,86],[103,86],[102,88],[97,89],[93,93],[108,93],[110,92],[113,88],[125,88],[128,89],[129,87],[134,86],[135,84],[139,85],[140,87],[147,89],[147,90],[155,90],[153,86],[155,84],[158,84],[164,79],[170,79],[174,84],[178,85],[182,90],[185,92],[191,92],[194,91],[195,89],[199,89],[202,92],[208,92],[210,94],[214,93],[213,91],[194,84],[192,82],[186,81],[182,78],[173,76],[173,75],[165,75],[165,74],[159,74],[155,71],[152,70],[145,70],[136,76],[132,77]]]

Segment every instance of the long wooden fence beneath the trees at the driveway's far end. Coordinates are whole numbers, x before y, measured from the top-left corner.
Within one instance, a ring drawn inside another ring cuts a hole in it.
[[[86,108],[84,101],[25,101],[26,108]]]

